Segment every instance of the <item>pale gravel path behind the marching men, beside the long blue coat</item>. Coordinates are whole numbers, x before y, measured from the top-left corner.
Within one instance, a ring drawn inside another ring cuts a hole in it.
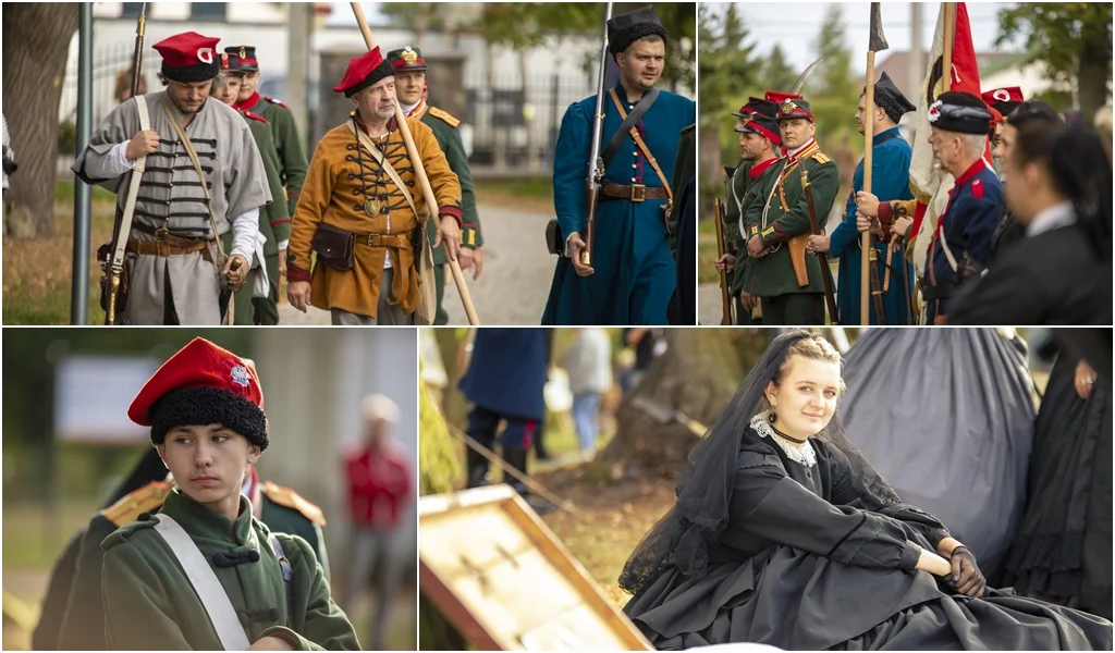
[[[546,305],[556,260],[546,252],[549,214],[537,211],[481,205],[484,224],[484,273],[478,280],[465,272],[468,292],[482,324],[537,324]],[[444,304],[449,324],[467,325],[453,275],[446,271]],[[279,304],[284,325],[329,324],[329,313],[310,308],[301,313],[285,301]]]

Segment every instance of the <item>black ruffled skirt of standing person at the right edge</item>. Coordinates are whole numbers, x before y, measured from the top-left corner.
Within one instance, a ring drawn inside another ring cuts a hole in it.
[[[1061,355],[1035,423],[1027,505],[1002,585],[1112,618],[1112,396],[1076,393]]]

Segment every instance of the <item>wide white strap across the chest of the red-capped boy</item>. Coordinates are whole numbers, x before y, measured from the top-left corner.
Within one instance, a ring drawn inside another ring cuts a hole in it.
[[[174,552],[174,557],[178,558],[178,564],[186,573],[190,584],[193,585],[197,598],[205,607],[213,628],[221,640],[221,646],[225,651],[246,651],[251,645],[248,635],[244,634],[244,626],[240,624],[236,610],[232,606],[232,601],[225,594],[221,581],[217,579],[213,567],[202,555],[201,549],[190,538],[186,530],[175,522],[169,515],[161,514],[155,519],[155,532],[158,533],[166,544]]]

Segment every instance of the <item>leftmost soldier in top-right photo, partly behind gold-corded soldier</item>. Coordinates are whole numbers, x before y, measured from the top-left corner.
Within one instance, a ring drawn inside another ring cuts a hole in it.
[[[731,294],[735,296],[736,323],[740,325],[763,324],[758,300],[752,296],[752,259],[746,253],[744,234],[744,197],[756,179],[763,176],[778,160],[782,135],[774,117],[777,105],[763,98],[748,98],[739,107],[736,116],[736,133],[739,134],[740,165],[728,177],[728,202],[725,211],[726,235],[731,238],[734,253],[725,254],[716,262],[717,270],[731,273]]]

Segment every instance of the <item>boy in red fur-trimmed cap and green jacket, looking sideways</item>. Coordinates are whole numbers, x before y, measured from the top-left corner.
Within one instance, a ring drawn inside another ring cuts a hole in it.
[[[200,338],[133,400],[177,487],[101,544],[109,647],[359,649],[310,545],[272,534],[242,495],[269,444],[262,406],[255,371]]]

